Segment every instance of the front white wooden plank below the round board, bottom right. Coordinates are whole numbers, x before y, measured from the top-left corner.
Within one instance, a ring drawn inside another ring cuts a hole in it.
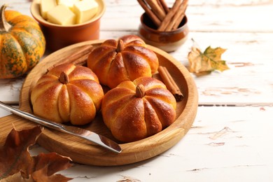
[[[119,167],[76,165],[73,181],[272,181],[273,107],[199,107],[186,137],[155,158]],[[32,155],[47,152],[31,150]]]

